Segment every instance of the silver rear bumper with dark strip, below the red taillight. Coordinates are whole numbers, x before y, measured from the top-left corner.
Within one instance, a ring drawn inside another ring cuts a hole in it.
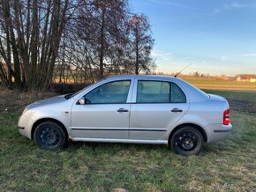
[[[232,125],[210,124],[206,127],[207,143],[218,142],[226,139],[232,130]]]

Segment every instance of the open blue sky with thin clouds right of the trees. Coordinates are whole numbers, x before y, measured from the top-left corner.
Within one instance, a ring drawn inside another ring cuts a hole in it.
[[[156,71],[256,74],[255,0],[132,0],[152,25]]]

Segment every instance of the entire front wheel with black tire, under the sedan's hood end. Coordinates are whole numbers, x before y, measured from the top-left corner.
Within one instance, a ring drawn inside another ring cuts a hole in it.
[[[59,150],[64,147],[67,136],[56,122],[41,122],[34,130],[34,142],[46,150]]]

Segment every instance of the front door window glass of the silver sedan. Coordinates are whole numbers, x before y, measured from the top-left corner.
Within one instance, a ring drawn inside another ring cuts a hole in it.
[[[130,80],[110,82],[98,86],[84,97],[87,104],[126,103],[130,85]]]

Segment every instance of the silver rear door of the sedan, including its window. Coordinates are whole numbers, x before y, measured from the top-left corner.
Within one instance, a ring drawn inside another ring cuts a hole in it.
[[[188,100],[175,83],[137,80],[133,91],[130,139],[156,140],[188,110]]]

